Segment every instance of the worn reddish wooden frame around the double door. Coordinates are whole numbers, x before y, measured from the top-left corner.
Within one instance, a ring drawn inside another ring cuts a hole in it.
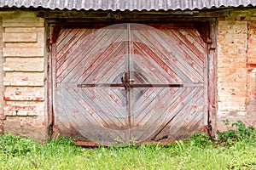
[[[201,19],[199,20],[189,20],[184,22],[184,20],[180,20],[181,22],[185,24],[191,24],[191,23],[201,23]],[[199,26],[197,29],[201,33],[201,37],[206,42],[207,48],[205,48],[205,54],[207,59],[207,116],[205,116],[204,124],[205,127],[202,129],[202,132],[208,133],[210,135],[215,134],[216,129],[216,48],[217,48],[217,20],[214,18],[206,19],[204,20],[207,24],[207,30],[204,28],[204,30],[201,30],[202,25]],[[143,23],[140,20],[137,20],[138,23]],[[176,26],[182,26],[182,24],[177,24],[177,20],[172,21],[169,20],[169,22],[166,22],[167,24],[170,24],[170,22],[173,22]],[[88,23],[88,22],[87,22]],[[159,20],[157,23],[165,24],[163,21]],[[102,27],[102,24],[106,26],[111,24],[117,24],[115,22],[113,23],[98,23],[93,26],[100,26]],[[146,23],[143,23],[146,24]],[[48,30],[49,30],[49,39],[48,39],[48,49],[49,49],[49,58],[48,58],[48,129],[49,129],[49,137],[55,139],[56,135],[58,135],[57,128],[55,127],[55,41],[61,31],[62,27],[73,27],[75,26],[72,22],[71,25],[68,25],[67,22],[63,22],[63,20],[55,20],[54,22],[52,20],[49,20]],[[85,25],[84,25],[85,26]],[[88,26],[88,25],[86,25]],[[91,26],[91,25],[90,25]],[[81,25],[78,25],[77,27],[81,27]],[[82,26],[83,27],[83,26]],[[206,38],[207,37],[207,38]],[[210,94],[210,95],[209,95]],[[88,143],[88,142],[78,142],[79,145],[96,145],[96,143]]]

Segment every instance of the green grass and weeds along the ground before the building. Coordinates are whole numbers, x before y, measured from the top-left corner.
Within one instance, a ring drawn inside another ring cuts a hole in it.
[[[2,169],[256,169],[256,140],[232,145],[189,142],[161,146],[83,149],[70,139],[46,144],[10,134],[0,137]]]

